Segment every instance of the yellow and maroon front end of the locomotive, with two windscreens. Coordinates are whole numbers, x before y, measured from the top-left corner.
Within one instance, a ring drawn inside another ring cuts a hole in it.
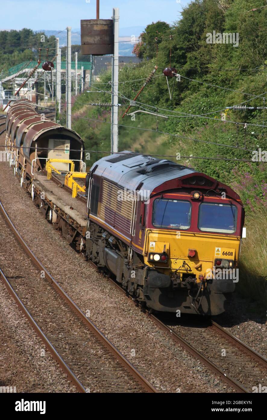
[[[148,206],[144,263],[148,307],[217,315],[238,277],[244,208],[199,189],[155,194]]]

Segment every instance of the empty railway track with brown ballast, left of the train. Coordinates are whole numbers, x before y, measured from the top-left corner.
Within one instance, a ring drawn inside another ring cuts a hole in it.
[[[5,273],[0,269],[0,276],[78,391],[158,392],[44,268],[16,230],[1,202],[0,214],[6,222],[2,234],[6,229],[5,234],[9,236],[2,268],[5,260],[9,264],[5,266]],[[14,249],[17,250],[16,259],[11,256]],[[16,261],[15,267],[10,268],[10,261]]]

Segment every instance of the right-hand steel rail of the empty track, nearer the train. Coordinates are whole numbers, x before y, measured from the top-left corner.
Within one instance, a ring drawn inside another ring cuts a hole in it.
[[[28,247],[26,242],[23,240],[21,235],[18,233],[16,227],[13,225],[12,221],[10,220],[8,214],[3,207],[2,202],[0,201],[0,210],[2,211],[8,225],[10,226],[11,230],[16,236],[18,242],[23,246],[26,250],[27,254],[31,257],[34,264],[39,267],[41,270],[44,271],[45,277],[51,284],[54,286],[55,290],[65,299],[65,301],[69,304],[71,309],[75,312],[76,315],[85,323],[85,325],[91,330],[94,336],[96,336],[99,341],[106,347],[106,349],[113,354],[119,363],[127,369],[127,371],[132,375],[133,378],[137,380],[138,383],[148,392],[155,392],[158,393],[159,391],[153,387],[153,385],[123,356],[121,352],[104,336],[104,334],[89,320],[86,315],[80,310],[80,308],[73,302],[73,300],[65,293],[65,291],[60,287],[56,280],[51,276],[51,274],[47,271],[47,269],[42,265],[39,259],[34,255],[31,249]]]

